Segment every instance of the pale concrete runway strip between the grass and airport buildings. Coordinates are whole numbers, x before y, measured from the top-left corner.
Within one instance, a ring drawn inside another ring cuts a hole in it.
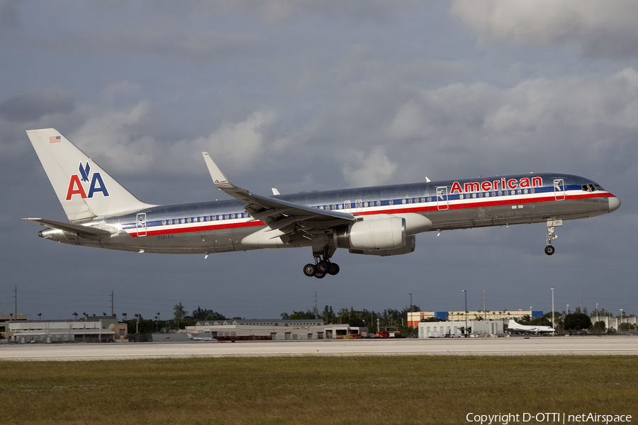
[[[242,356],[638,355],[633,336],[1,345],[0,361]]]

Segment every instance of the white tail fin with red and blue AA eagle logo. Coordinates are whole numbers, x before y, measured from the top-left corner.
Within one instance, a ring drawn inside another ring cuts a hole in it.
[[[27,135],[69,221],[151,206],[135,198],[57,130],[27,130]]]

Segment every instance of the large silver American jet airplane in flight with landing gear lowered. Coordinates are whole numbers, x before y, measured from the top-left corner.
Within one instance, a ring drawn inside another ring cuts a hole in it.
[[[607,214],[620,200],[585,177],[516,174],[262,196],[230,183],[202,152],[213,183],[235,198],[152,205],[135,198],[55,129],[28,130],[68,222],[24,218],[47,227],[43,239],[105,249],[209,254],[310,247],[306,276],[340,271],[337,248],[392,256],[415,250],[422,232],[547,223],[544,251],[554,254],[564,220]]]

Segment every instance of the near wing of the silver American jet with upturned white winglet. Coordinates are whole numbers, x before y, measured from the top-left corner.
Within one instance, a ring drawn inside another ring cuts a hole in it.
[[[357,221],[354,215],[346,212],[319,210],[307,205],[250,193],[250,191],[230,183],[208,152],[202,152],[202,154],[215,186],[233,198],[246,203],[245,210],[252,217],[261,220],[271,229],[288,234],[289,237],[292,237],[299,230],[299,227],[308,232],[312,229],[325,230]]]

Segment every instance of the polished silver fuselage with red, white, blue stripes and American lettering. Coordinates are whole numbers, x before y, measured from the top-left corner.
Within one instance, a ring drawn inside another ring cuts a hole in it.
[[[488,190],[485,190],[488,189]],[[351,188],[273,196],[354,215],[419,214],[430,231],[576,220],[603,215],[620,202],[597,183],[569,174],[522,174],[457,181]],[[264,227],[238,200],[160,205],[78,222],[112,234],[86,236],[45,229],[40,237],[67,244],[163,254],[247,251],[242,239]],[[286,247],[310,246],[306,239]]]

